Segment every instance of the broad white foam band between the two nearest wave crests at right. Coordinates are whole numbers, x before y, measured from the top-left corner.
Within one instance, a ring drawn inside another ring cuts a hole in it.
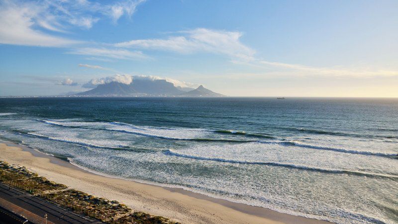
[[[169,154],[193,159],[231,163],[269,164],[336,173],[363,174],[398,178],[398,161],[388,157],[344,154],[285,146],[274,142],[263,144],[197,144],[186,149],[169,149]]]

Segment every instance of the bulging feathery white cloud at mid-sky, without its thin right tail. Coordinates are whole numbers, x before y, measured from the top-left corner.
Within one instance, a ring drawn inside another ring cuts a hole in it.
[[[166,39],[142,39],[116,43],[116,47],[132,47],[174,51],[178,53],[210,52],[223,54],[232,58],[252,60],[255,51],[242,44],[240,32],[198,28],[181,31],[184,35],[171,36]]]

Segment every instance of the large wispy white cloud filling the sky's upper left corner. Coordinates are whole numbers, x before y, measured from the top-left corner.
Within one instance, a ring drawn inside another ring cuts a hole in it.
[[[124,0],[101,4],[89,0],[0,0],[0,43],[60,47],[81,41],[46,33],[67,33],[71,26],[90,29],[103,17],[116,22],[128,17],[144,0]],[[116,16],[115,8],[119,12]]]

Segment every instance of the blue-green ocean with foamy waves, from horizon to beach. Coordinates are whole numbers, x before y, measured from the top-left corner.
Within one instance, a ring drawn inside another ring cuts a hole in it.
[[[398,223],[398,99],[0,98],[0,139],[335,223]]]

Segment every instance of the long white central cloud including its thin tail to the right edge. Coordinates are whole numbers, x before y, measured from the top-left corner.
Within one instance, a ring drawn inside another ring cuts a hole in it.
[[[114,44],[116,47],[172,51],[182,54],[210,52],[231,57],[236,64],[265,68],[271,72],[286,75],[373,77],[398,76],[397,71],[371,68],[319,68],[299,64],[270,62],[255,57],[255,50],[240,42],[241,32],[197,28],[178,32],[182,35],[162,39],[140,39]]]

